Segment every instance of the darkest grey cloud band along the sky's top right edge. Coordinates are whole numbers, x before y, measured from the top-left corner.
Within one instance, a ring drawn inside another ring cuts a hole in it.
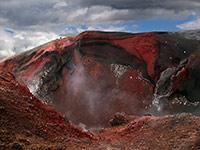
[[[199,9],[199,0],[82,0],[82,6],[109,6],[115,9],[155,9],[174,10]]]

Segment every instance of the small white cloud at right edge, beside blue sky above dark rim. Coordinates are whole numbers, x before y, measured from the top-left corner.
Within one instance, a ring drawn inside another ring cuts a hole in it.
[[[177,25],[177,27],[183,30],[200,29],[200,17],[197,17],[195,20]]]

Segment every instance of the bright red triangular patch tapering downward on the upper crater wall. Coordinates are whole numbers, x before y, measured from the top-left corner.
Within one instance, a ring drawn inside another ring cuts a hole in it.
[[[155,63],[159,56],[158,35],[156,32],[144,33],[130,38],[115,39],[112,43],[144,61],[148,75],[154,77]]]

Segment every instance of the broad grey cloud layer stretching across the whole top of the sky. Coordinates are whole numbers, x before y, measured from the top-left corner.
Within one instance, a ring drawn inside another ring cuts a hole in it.
[[[197,0],[1,0],[0,23],[30,27],[104,24],[152,18],[183,19],[200,12]]]

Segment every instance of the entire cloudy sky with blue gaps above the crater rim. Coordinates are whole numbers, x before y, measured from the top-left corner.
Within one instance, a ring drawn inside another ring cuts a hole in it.
[[[0,58],[85,30],[200,28],[200,0],[0,0]]]

